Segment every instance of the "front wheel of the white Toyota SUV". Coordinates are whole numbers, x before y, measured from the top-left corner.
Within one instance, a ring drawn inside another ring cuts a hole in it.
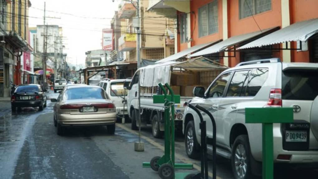
[[[185,151],[190,158],[199,158],[199,143],[197,142],[196,130],[194,128],[194,121],[187,124],[184,132]]]

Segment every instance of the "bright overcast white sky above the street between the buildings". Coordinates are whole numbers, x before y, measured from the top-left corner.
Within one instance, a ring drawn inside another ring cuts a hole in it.
[[[85,52],[101,49],[102,29],[110,28],[111,18],[121,0],[30,0],[29,27],[43,25],[43,9],[46,2],[46,23],[59,25],[65,36],[64,53],[72,64],[85,63]],[[40,10],[39,10],[40,9]],[[56,11],[56,12],[50,12]],[[68,13],[72,15],[61,14]],[[81,18],[81,17],[90,18]],[[38,17],[38,18],[32,18]],[[58,17],[60,19],[48,18]],[[104,19],[103,19],[104,18]]]

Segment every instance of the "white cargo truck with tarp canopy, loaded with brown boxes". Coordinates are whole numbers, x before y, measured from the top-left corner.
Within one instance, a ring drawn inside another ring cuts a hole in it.
[[[180,95],[180,103],[175,105],[175,126],[182,130],[184,103],[192,99],[192,90],[195,86],[205,86],[211,83],[216,76],[227,67],[204,57],[184,62],[166,62],[142,67],[128,85],[127,109],[131,118],[131,129],[137,130],[138,119],[138,81],[140,79],[140,107],[141,126],[152,125],[152,134],[155,138],[162,137],[164,131],[163,104],[154,104],[153,95],[162,94],[158,83],[168,83],[175,95]],[[168,90],[167,90],[168,91]]]

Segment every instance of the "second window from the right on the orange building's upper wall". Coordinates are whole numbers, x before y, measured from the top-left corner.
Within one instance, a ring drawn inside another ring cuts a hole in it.
[[[218,1],[199,8],[199,37],[218,32]]]

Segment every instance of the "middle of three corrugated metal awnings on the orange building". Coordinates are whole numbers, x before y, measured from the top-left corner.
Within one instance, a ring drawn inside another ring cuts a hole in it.
[[[203,56],[203,55],[218,53],[218,52],[223,51],[223,50],[225,50],[225,49],[227,49],[235,44],[241,43],[245,40],[251,39],[251,38],[256,37],[260,34],[265,34],[271,30],[274,30],[275,28],[277,28],[277,27],[262,30],[262,31],[256,31],[256,32],[248,33],[248,34],[242,34],[239,36],[232,36],[232,37],[230,37],[222,42],[219,42],[215,45],[212,45],[211,47],[208,47],[204,50],[198,51],[197,53],[189,55],[188,57]]]

